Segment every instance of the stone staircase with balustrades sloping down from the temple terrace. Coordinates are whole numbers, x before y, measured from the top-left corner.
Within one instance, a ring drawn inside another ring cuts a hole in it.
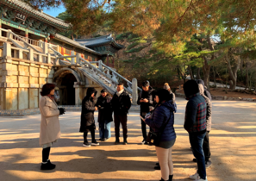
[[[4,30],[4,29],[1,29],[1,30]],[[141,90],[139,87],[137,87],[136,78],[133,79],[133,83],[130,82],[127,78],[122,77],[122,75],[114,71],[111,67],[104,65],[102,60],[89,62],[81,58],[79,54],[71,55],[71,56],[63,56],[58,51],[54,50],[53,45],[51,44],[41,41],[38,43],[33,42],[33,44],[37,45],[37,46],[34,46],[29,44],[27,40],[24,40],[24,37],[14,34],[10,30],[6,32],[7,32],[7,37],[6,37],[7,40],[12,42],[12,45],[15,46],[16,49],[19,49],[22,52],[26,52],[30,54],[32,53],[33,55],[32,57],[29,55],[30,60],[32,59],[34,60],[34,54],[35,54],[38,57],[41,56],[40,59],[41,59],[41,62],[43,63],[46,62],[46,63],[56,64],[56,62],[59,62],[60,66],[61,65],[76,66],[78,67],[78,70],[80,72],[83,72],[86,78],[90,78],[93,82],[100,85],[104,89],[108,90],[109,93],[112,95],[116,92],[117,84],[121,82],[124,83],[124,89],[128,91],[128,94],[131,97],[133,97],[134,100],[137,97],[137,90]],[[42,59],[47,59],[47,56],[48,56],[48,60],[42,60]],[[72,60],[69,60],[67,58],[72,58]],[[54,59],[54,61],[49,59]],[[65,59],[65,60],[62,60],[62,59]]]

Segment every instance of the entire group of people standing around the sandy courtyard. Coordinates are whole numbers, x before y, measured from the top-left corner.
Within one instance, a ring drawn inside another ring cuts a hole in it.
[[[60,137],[59,115],[65,114],[65,109],[59,109],[54,102],[54,84],[44,84],[41,91],[41,134],[42,149],[41,170],[55,168],[49,158],[53,142]],[[197,181],[207,181],[206,166],[211,164],[209,152],[209,131],[211,128],[211,97],[205,89],[203,80],[189,80],[184,84],[184,94],[189,100],[186,105],[184,128],[189,133],[190,147],[197,162],[197,173],[190,178]],[[109,140],[111,137],[110,124],[115,123],[115,144],[120,144],[120,124],[122,124],[123,144],[128,144],[128,110],[131,107],[128,92],[123,84],[118,84],[116,93],[110,97],[107,90],[101,90],[97,98],[97,90],[88,88],[82,102],[81,124],[79,132],[84,134],[84,147],[97,146],[95,137],[96,124],[94,112],[98,110],[99,140]],[[153,90],[148,81],[142,83],[142,91],[137,101],[140,105],[141,144],[148,144],[147,125],[154,133],[161,132],[159,144],[155,147],[161,170],[161,181],[173,178],[172,147],[177,135],[174,128],[174,114],[177,111],[175,94],[169,84],[164,89]],[[91,144],[88,133],[91,133]]]

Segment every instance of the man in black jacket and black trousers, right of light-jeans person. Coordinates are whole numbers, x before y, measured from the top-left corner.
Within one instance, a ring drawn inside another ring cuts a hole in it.
[[[123,89],[123,84],[118,84],[116,93],[114,94],[111,104],[114,109],[114,122],[115,122],[115,133],[116,133],[116,142],[119,144],[120,136],[120,123],[122,124],[122,134],[123,134],[123,144],[127,145],[127,114],[128,109],[131,107],[131,99],[128,95],[128,92]]]

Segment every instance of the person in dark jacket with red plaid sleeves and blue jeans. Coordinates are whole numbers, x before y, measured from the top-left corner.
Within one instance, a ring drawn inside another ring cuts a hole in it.
[[[205,159],[203,154],[203,139],[206,133],[206,103],[200,95],[196,80],[189,80],[184,84],[184,94],[189,102],[186,105],[184,128],[190,136],[190,146],[197,159],[197,173],[190,178],[206,180]]]

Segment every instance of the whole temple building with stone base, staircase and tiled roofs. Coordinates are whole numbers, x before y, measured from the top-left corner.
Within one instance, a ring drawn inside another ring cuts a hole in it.
[[[114,69],[123,48],[111,34],[69,39],[59,32],[72,24],[20,0],[0,1],[0,115],[39,112],[43,84],[56,84],[59,105],[79,106],[88,87],[113,94],[118,82],[132,83]]]

